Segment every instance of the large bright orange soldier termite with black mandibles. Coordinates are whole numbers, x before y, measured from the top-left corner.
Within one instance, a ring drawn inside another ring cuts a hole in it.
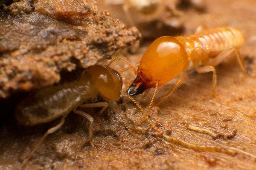
[[[128,88],[127,94],[142,94],[146,89],[157,88],[181,74],[172,89],[157,103],[160,104],[183,83],[188,64],[192,61],[198,73],[213,73],[212,85],[215,95],[215,66],[233,52],[243,73],[246,74],[244,61],[238,50],[244,45],[245,38],[239,29],[231,26],[212,29],[198,27],[196,32],[197,34],[189,36],[164,36],[155,40],[145,51],[137,77]]]

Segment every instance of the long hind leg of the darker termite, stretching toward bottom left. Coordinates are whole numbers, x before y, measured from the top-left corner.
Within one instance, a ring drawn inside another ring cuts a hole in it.
[[[55,131],[58,130],[59,128],[61,128],[61,126],[64,124],[64,122],[65,122],[65,117],[62,116],[62,117],[61,117],[61,122],[59,122],[58,125],[56,125],[56,126],[50,128],[50,129],[48,129],[47,132],[44,133],[44,136],[40,139],[40,141],[38,142],[38,144],[36,144],[35,148],[32,150],[32,152],[30,153],[29,157],[23,161],[23,163],[22,163],[23,165],[26,163],[26,161],[28,161],[28,160],[32,157],[33,153],[35,153],[35,151],[37,150],[37,148],[44,142],[44,140],[47,138],[47,136],[48,136],[49,134],[55,132]]]

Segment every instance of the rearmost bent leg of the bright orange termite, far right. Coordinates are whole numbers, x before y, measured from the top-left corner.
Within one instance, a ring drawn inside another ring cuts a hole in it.
[[[218,54],[217,57],[212,59],[211,62],[209,62],[209,65],[216,66],[219,63],[221,63],[224,59],[226,59],[228,56],[230,56],[233,52],[236,54],[236,59],[239,62],[239,65],[243,71],[243,74],[246,75],[246,69],[244,66],[244,60],[241,58],[239,54],[239,50],[236,47],[230,47],[227,48],[226,50],[222,51],[220,54]]]

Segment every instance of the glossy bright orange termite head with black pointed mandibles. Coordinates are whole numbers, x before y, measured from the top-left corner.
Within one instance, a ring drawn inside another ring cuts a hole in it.
[[[128,89],[130,96],[146,89],[163,85],[177,77],[188,64],[185,48],[175,37],[164,36],[155,40],[145,51],[138,74]]]

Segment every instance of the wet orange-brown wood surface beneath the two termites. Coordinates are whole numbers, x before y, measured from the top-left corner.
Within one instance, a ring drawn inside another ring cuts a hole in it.
[[[193,10],[186,11],[187,33],[201,24],[241,28],[249,41],[241,48],[241,54],[256,75],[256,2],[207,0],[206,3],[207,13],[198,15]],[[145,48],[129,55],[129,60],[137,64]],[[120,63],[113,66],[117,70],[124,68]],[[236,60],[219,65],[217,72],[218,98],[211,95],[212,75],[191,70],[175,94],[159,108],[152,109],[152,121],[158,122],[154,116],[157,114],[162,122],[158,124],[160,132],[172,130],[165,139],[161,133],[148,129],[146,122],[140,124],[141,113],[128,99],[122,98],[112,102],[102,116],[96,114],[99,109],[85,110],[95,118],[95,148],[86,145],[80,150],[87,139],[88,121],[71,113],[64,127],[50,135],[23,168],[255,170],[256,78],[244,77]],[[125,73],[123,77],[128,84],[135,76]],[[157,96],[165,94],[172,85],[170,82],[161,87]],[[136,99],[145,106],[151,92]],[[15,125],[14,119],[6,122],[1,127],[0,169],[19,169],[20,162],[43,133],[58,121],[30,128]],[[203,133],[198,132],[202,128]]]

